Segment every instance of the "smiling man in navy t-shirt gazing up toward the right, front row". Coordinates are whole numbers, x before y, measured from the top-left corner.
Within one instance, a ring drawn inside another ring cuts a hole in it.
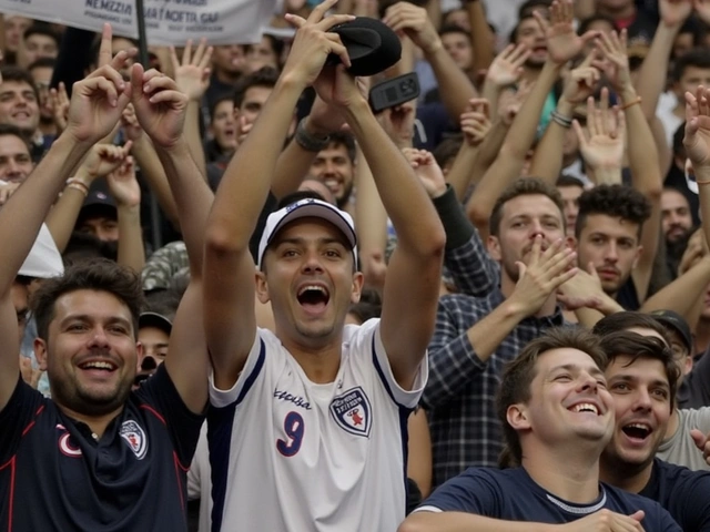
[[[613,430],[606,364],[598,338],[581,329],[529,342],[506,366],[497,398],[505,462],[519,467],[467,470],[398,531],[681,530],[656,502],[599,482]]]

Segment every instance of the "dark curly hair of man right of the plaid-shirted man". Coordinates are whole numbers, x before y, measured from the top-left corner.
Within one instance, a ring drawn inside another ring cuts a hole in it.
[[[579,196],[579,214],[575,226],[577,238],[587,224],[587,217],[594,214],[604,214],[637,224],[640,238],[643,223],[651,216],[651,205],[643,194],[631,186],[597,185]]]

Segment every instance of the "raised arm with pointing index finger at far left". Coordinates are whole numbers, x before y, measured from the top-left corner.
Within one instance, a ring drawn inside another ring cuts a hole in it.
[[[0,260],[0,409],[8,403],[20,375],[18,321],[10,297],[12,283],[67,178],[89,149],[113,129],[129,101],[130,89],[116,70],[125,61],[125,54],[119,53],[111,61],[111,28],[108,24],[100,55],[103,66],[74,84],[67,130],[0,209],[0,242],[3,245]]]

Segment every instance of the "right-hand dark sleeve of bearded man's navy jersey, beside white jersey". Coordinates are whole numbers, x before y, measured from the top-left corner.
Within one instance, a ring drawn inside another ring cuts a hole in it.
[[[163,418],[180,463],[185,468],[190,467],[204,416],[187,408],[164,365],[159,366],[155,374],[135,393],[139,400],[154,408]]]

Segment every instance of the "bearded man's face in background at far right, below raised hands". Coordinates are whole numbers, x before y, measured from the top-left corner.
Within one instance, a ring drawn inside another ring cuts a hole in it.
[[[661,194],[661,228],[666,237],[666,262],[673,277],[692,235],[692,215],[686,196],[677,188],[666,186]]]

